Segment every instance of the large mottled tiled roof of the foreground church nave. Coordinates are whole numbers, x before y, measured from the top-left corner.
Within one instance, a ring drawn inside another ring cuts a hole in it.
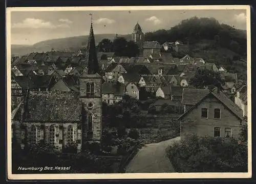
[[[77,92],[30,92],[26,121],[80,121],[81,104]]]

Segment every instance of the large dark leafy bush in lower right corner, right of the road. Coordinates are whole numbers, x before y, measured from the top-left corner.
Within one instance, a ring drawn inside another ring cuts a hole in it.
[[[166,149],[177,172],[247,172],[247,144],[189,135]]]

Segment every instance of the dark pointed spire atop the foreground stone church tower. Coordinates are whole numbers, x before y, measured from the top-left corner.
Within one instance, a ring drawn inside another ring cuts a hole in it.
[[[91,15],[91,29],[90,35],[88,38],[88,45],[87,45],[87,63],[88,63],[88,74],[94,74],[99,71],[99,63],[98,57],[96,52],[96,45],[95,45],[95,38],[93,32],[93,21],[92,21],[92,14]]]

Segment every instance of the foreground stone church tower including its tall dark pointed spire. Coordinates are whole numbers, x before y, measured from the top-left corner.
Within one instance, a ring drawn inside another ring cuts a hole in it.
[[[86,55],[88,67],[87,69],[83,67],[83,73],[79,78],[82,104],[82,149],[87,142],[100,142],[102,133],[102,77],[98,74],[99,64],[92,21]]]

